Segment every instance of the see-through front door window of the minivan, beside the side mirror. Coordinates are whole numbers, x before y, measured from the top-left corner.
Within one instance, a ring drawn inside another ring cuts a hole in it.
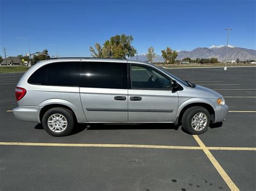
[[[147,66],[131,65],[133,89],[171,89],[170,79]]]

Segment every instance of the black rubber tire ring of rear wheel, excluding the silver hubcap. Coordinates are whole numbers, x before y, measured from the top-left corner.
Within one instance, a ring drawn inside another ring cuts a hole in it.
[[[64,131],[62,132],[53,132],[49,126],[48,126],[48,119],[50,118],[50,116],[52,116],[53,114],[60,114],[63,115],[66,118],[66,122],[68,123],[66,125],[66,128]],[[44,130],[51,136],[53,137],[63,137],[63,136],[68,136],[74,126],[75,123],[75,116],[73,115],[72,111],[70,111],[69,109],[65,109],[65,108],[51,108],[48,111],[45,112],[43,119],[42,119],[42,125]]]

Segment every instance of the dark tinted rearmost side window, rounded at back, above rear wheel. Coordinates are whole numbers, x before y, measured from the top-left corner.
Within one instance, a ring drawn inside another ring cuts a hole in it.
[[[37,69],[28,83],[49,86],[78,86],[80,62],[53,62]]]

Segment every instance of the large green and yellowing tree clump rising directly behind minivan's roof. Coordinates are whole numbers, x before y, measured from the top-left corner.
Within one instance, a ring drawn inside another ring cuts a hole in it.
[[[100,51],[102,52],[102,57],[99,57],[99,58],[113,57],[113,58],[124,59],[126,57],[129,58],[131,56],[134,56],[137,51],[131,45],[132,41],[133,41],[133,38],[131,35],[126,36],[125,34],[121,34],[121,35],[117,34],[116,36],[111,37],[109,40],[106,40],[105,43],[103,44],[102,51]],[[99,54],[99,51],[97,51],[97,48],[96,48],[96,51],[94,51],[94,49],[90,47],[90,51],[92,52],[93,56]]]

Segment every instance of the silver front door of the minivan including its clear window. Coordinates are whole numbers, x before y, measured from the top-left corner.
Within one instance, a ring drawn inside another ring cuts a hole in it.
[[[137,63],[130,64],[130,76],[129,122],[174,122],[178,94],[172,91],[170,77],[156,68]]]

